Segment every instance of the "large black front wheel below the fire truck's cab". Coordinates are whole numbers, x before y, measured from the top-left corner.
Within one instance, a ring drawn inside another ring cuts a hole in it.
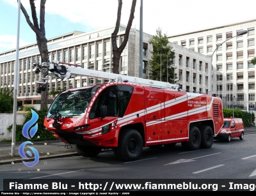
[[[131,162],[138,160],[143,150],[143,140],[140,133],[134,129],[127,129],[120,133],[118,147],[114,149],[119,160]]]

